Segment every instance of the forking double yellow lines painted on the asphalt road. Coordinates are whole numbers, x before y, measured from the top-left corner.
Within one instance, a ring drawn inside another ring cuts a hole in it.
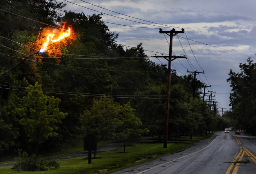
[[[234,135],[232,135],[232,136],[234,136]],[[241,144],[241,141],[236,136],[234,136],[234,138],[236,138],[238,144]],[[247,150],[245,147],[240,147],[240,152],[235,157],[234,161],[229,166],[229,168],[228,168],[228,170],[225,174],[230,174],[233,167],[234,167],[234,170],[232,171],[232,174],[237,173],[238,167],[240,165],[240,163],[238,163],[237,161],[241,161],[243,159],[244,153],[246,153],[253,160],[253,162],[256,164],[256,156],[254,156],[252,153],[250,153],[250,151]],[[237,162],[237,163],[235,164],[235,162]]]

